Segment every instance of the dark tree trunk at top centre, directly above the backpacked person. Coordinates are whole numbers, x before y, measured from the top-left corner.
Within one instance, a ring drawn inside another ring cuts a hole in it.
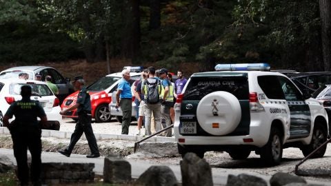
[[[150,0],[150,30],[161,26],[161,3],[160,0]]]

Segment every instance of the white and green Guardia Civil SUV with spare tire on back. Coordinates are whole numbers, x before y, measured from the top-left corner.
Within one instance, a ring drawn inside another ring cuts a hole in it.
[[[265,165],[279,165],[285,147],[304,156],[327,141],[328,115],[287,76],[266,63],[217,65],[192,74],[174,105],[174,136],[179,154],[225,151],[233,159],[260,154]],[[326,146],[314,154],[325,154]]]

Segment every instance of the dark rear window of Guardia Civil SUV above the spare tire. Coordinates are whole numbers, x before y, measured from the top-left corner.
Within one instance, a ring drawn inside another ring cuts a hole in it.
[[[239,100],[248,100],[247,76],[191,77],[183,99],[201,100],[205,95],[216,91],[229,92]]]

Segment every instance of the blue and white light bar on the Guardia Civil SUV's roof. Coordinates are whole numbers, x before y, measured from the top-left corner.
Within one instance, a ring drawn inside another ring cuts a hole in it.
[[[240,70],[259,70],[269,71],[268,63],[237,63],[237,64],[217,64],[216,71],[240,71]]]

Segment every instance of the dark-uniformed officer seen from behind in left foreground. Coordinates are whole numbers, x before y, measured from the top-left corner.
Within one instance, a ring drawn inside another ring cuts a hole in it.
[[[20,101],[15,101],[3,117],[3,125],[12,134],[12,147],[17,161],[17,177],[20,185],[29,184],[27,151],[31,154],[31,180],[33,185],[41,185],[41,125],[47,124],[47,116],[39,101],[30,99],[32,89],[29,85],[21,87]],[[9,119],[15,120],[9,123]],[[37,121],[37,117],[41,119]]]

